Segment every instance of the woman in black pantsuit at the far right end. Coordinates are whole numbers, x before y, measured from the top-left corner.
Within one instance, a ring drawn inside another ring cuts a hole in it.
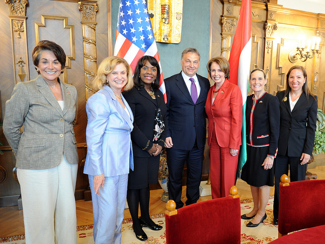
[[[280,101],[280,136],[275,162],[274,224],[278,224],[281,175],[288,174],[290,167],[290,181],[305,179],[307,162],[314,146],[317,117],[317,97],[308,88],[304,67],[289,69],[286,89],[276,96]]]

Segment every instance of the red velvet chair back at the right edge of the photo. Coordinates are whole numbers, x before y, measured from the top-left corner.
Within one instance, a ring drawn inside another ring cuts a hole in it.
[[[325,179],[288,183],[283,174],[279,194],[279,237],[325,225]]]

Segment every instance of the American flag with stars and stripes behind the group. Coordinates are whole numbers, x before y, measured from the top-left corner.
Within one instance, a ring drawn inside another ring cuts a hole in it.
[[[166,88],[158,55],[158,49],[147,9],[146,0],[121,0],[119,6],[114,56],[123,57],[135,71],[138,60],[149,55],[157,59],[160,67],[159,89],[164,94]]]

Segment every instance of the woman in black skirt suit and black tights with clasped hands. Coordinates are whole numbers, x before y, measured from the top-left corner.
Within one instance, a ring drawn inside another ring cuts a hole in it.
[[[134,129],[131,133],[134,171],[128,175],[127,204],[133,220],[133,230],[139,240],[147,235],[141,226],[152,230],[162,227],[149,216],[149,184],[158,181],[160,152],[166,139],[166,104],[158,89],[160,69],[152,56],[139,59],[135,74],[135,87],[123,94],[134,115]],[[138,209],[141,217],[138,218]]]

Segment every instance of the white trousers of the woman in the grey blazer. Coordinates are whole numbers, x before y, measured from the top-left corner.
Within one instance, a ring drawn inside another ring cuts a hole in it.
[[[17,169],[26,244],[77,243],[77,171],[64,155],[54,168]]]

